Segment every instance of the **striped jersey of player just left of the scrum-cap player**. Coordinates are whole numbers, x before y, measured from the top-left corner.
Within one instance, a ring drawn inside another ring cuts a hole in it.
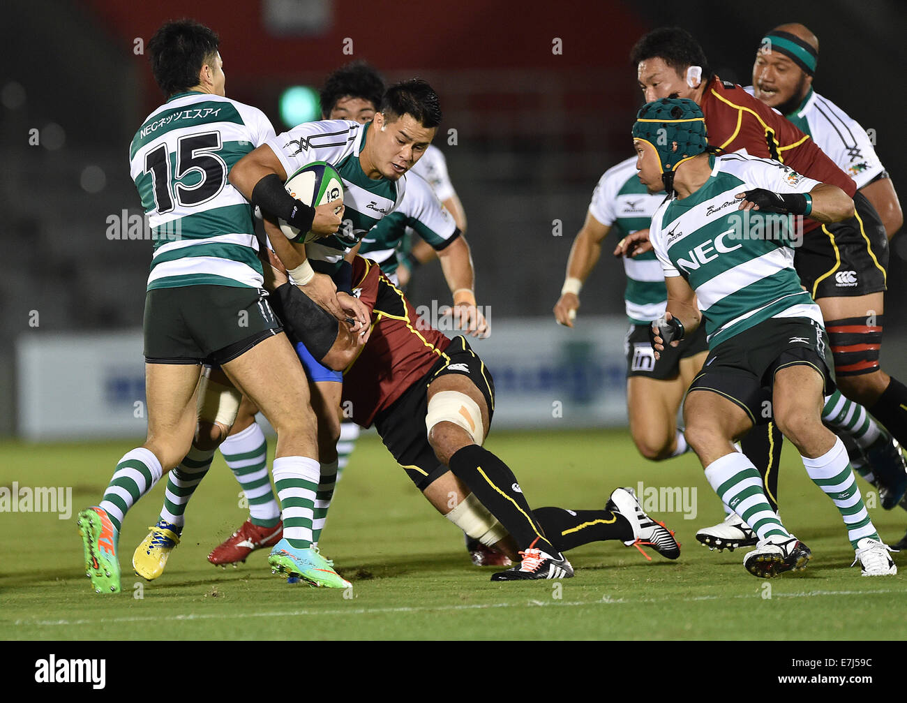
[[[592,191],[590,215],[610,227],[618,239],[637,229],[649,227],[652,213],[665,200],[664,192],[649,194],[649,190],[639,182],[637,172],[635,156],[620,161],[617,166],[605,171]],[[624,257],[623,262],[627,274],[624,303],[630,323],[645,325],[657,320],[664,314],[668,302],[661,264],[651,251],[640,254],[636,259]]]

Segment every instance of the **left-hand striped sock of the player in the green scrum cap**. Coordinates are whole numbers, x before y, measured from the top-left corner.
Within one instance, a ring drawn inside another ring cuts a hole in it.
[[[760,541],[775,535],[791,536],[768,504],[762,476],[744,454],[731,452],[708,464],[706,479],[718,497],[756,532]]]

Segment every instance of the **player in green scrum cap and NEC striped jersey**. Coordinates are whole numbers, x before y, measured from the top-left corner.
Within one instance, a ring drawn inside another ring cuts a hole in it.
[[[866,576],[896,574],[844,444],[822,423],[834,362],[822,312],[793,265],[804,236],[794,216],[845,220],[853,200],[777,161],[716,156],[690,100],[647,103],[633,144],[639,180],[662,184],[670,196],[649,229],[668,288],[665,316],[652,323],[653,346],[660,354],[706,326],[706,363],[684,402],[686,433],[708,483],[759,538],[746,570],[771,578],[805,568],[812,557],[772,511],[755,467],[733,444],[762,421],[768,403],[807,474],[841,513],[854,563]]]

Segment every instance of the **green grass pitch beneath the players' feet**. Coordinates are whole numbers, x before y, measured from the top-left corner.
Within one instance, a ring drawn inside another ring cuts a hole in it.
[[[187,511],[167,571],[146,582],[132,551],[157,520],[163,482],[127,515],[122,593],[97,595],[84,577],[75,515],[98,503],[116,460],[137,443],[0,444],[0,485],[72,487],[72,514],[0,513],[0,638],[5,640],[904,640],[893,614],[902,574],[863,578],[834,505],[788,444],[779,487],[785,524],[813,550],[806,571],[773,581],[743,568],[743,552],[709,552],[693,538],[723,513],[692,454],[639,457],[626,431],[493,433],[486,446],[512,467],[530,504],[600,508],[614,488],[697,489],[695,519],[654,513],[677,531],[678,561],[646,561],[619,542],[573,552],[576,577],[492,583],[463,537],[415,490],[374,434],[356,446],[321,547],[352,581],[348,591],[288,585],[267,550],[222,571],[205,557],[246,518],[239,485],[218,454]],[[269,449],[273,454],[274,442]],[[860,483],[864,498],[873,488]],[[692,493],[688,493],[692,496]],[[872,497],[870,497],[872,501]],[[872,503],[870,503],[872,504]],[[675,506],[677,509],[678,506]],[[900,508],[870,511],[883,540],[907,528]]]

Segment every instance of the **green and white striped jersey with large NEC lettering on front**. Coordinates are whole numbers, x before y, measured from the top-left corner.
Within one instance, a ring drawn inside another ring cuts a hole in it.
[[[805,193],[818,181],[769,159],[732,153],[711,160],[705,184],[683,200],[664,202],[649,229],[665,277],[683,276],[696,291],[708,346],[769,317],[809,317],[824,326],[794,270],[794,218],[737,210],[735,198],[754,188]]]

